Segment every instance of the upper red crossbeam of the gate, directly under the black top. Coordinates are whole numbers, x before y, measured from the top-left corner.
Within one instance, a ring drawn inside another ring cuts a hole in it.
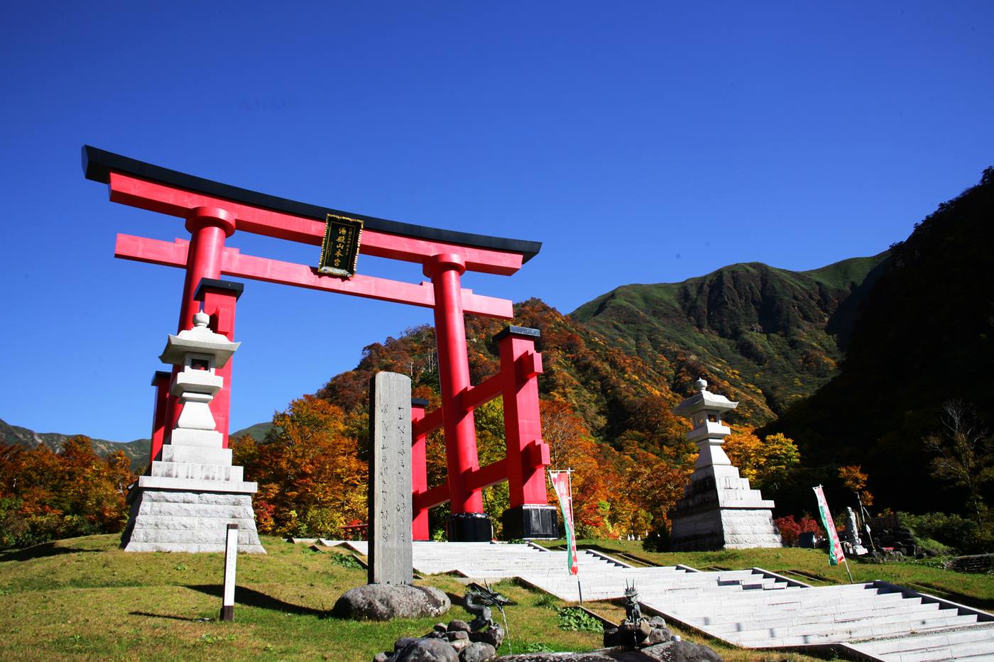
[[[219,207],[228,211],[240,232],[320,246],[324,223],[304,217],[236,203],[224,198],[194,193],[150,182],[118,172],[110,172],[110,201],[160,214],[187,218],[198,207]],[[432,242],[364,230],[361,253],[423,263],[442,253],[457,254],[470,271],[511,275],[521,268],[522,254],[492,248],[476,248]]]

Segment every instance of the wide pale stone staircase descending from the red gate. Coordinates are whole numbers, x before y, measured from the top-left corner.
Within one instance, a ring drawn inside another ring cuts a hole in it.
[[[365,542],[344,545],[369,551]],[[887,662],[994,661],[994,616],[887,581],[814,587],[759,568],[633,568],[589,550],[580,551],[579,561],[584,600],[621,597],[634,582],[647,612],[745,648],[833,645],[854,658]],[[516,577],[579,599],[566,552],[537,545],[416,542],[414,569],[490,581]]]

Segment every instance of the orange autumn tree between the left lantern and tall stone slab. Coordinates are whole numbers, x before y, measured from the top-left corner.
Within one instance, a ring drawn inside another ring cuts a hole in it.
[[[235,463],[258,482],[259,532],[337,537],[342,526],[366,521],[367,446],[359,419],[365,417],[304,396],[273,415],[261,442],[248,435],[234,441]]]

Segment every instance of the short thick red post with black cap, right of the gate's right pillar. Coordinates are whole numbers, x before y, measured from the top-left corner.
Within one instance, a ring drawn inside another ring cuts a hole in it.
[[[511,508],[545,505],[549,446],[542,440],[538,375],[542,355],[535,351],[536,329],[511,326],[497,334],[504,390],[504,435]]]

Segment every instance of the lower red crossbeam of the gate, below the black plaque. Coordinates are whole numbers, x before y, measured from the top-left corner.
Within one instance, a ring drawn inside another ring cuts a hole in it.
[[[188,249],[189,242],[184,240],[163,242],[118,234],[114,256],[164,266],[185,266]],[[315,273],[314,268],[306,264],[246,255],[238,248],[225,248],[221,272],[238,278],[352,294],[381,301],[408,303],[424,308],[434,306],[434,292],[429,283],[414,285],[362,274],[356,274],[346,280]],[[462,308],[467,313],[498,319],[514,317],[513,305],[508,299],[474,294],[471,289],[461,289],[460,294]]]

